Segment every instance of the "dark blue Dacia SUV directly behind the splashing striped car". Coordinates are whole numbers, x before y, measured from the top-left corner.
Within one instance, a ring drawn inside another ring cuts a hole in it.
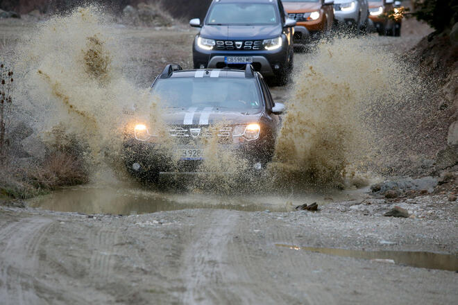
[[[193,44],[194,69],[252,64],[277,85],[287,82],[294,60],[294,26],[280,0],[214,0]]]

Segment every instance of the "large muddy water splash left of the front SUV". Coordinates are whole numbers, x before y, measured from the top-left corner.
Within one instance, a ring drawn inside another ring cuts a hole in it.
[[[17,50],[22,100],[30,101],[25,107],[38,134],[51,141],[56,126],[77,134],[95,164],[119,157],[123,128],[133,117],[160,125],[149,91],[121,73],[128,53],[110,26],[100,8],[78,8],[38,25]]]

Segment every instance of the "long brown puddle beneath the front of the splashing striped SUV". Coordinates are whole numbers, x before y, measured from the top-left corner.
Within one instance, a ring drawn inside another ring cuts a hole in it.
[[[237,211],[294,211],[300,204],[332,200],[362,200],[366,189],[296,195],[171,193],[128,186],[77,186],[62,188],[28,202],[30,207],[83,214],[132,215],[180,209],[231,209]]]

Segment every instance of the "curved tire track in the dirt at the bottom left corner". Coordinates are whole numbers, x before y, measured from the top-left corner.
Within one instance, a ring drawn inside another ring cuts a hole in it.
[[[41,304],[35,290],[39,279],[39,247],[53,220],[26,218],[3,226],[0,242],[0,299],[2,304]]]

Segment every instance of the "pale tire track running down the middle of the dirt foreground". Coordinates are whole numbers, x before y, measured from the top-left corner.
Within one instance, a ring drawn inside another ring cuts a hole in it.
[[[232,268],[225,253],[232,238],[230,232],[237,226],[237,214],[216,210],[206,219],[210,223],[192,232],[183,256],[183,304],[228,304],[238,299],[237,291],[225,281],[226,272]]]

